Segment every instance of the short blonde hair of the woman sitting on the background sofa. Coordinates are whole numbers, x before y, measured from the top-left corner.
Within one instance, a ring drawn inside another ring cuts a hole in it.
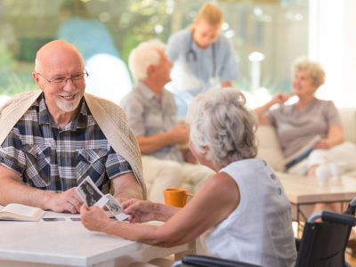
[[[298,58],[295,60],[292,73],[295,76],[297,71],[303,70],[310,77],[312,77],[312,84],[316,86],[320,86],[325,82],[325,72],[324,69],[321,68],[320,64],[314,61],[310,61],[305,57]]]

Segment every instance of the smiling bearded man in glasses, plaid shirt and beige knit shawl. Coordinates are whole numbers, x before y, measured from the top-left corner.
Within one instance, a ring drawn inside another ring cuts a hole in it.
[[[140,150],[122,109],[85,93],[84,61],[63,41],[36,53],[40,90],[0,109],[0,205],[78,213],[89,176],[105,194],[145,198]]]

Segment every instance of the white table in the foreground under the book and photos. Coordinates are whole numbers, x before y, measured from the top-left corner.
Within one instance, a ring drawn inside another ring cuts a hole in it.
[[[53,215],[59,214],[45,216]],[[193,250],[192,244],[163,248],[111,237],[80,222],[0,221],[0,266],[125,266]]]

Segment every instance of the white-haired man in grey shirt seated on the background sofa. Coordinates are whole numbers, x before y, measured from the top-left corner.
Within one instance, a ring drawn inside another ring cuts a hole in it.
[[[129,68],[138,83],[122,102],[143,155],[148,198],[158,202],[163,201],[164,189],[188,183],[198,190],[214,174],[195,164],[187,147],[189,129],[178,123],[174,97],[165,89],[171,67],[165,44],[151,40],[137,46],[129,56]]]

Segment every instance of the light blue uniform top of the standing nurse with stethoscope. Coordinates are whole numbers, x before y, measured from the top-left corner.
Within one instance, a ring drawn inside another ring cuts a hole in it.
[[[182,109],[180,101],[188,104],[198,93],[238,77],[232,47],[225,36],[218,36],[214,44],[202,49],[192,40],[190,29],[185,28],[169,38],[166,53],[174,63],[172,83],[167,88],[175,94],[178,109]],[[179,115],[184,116],[181,111]]]

